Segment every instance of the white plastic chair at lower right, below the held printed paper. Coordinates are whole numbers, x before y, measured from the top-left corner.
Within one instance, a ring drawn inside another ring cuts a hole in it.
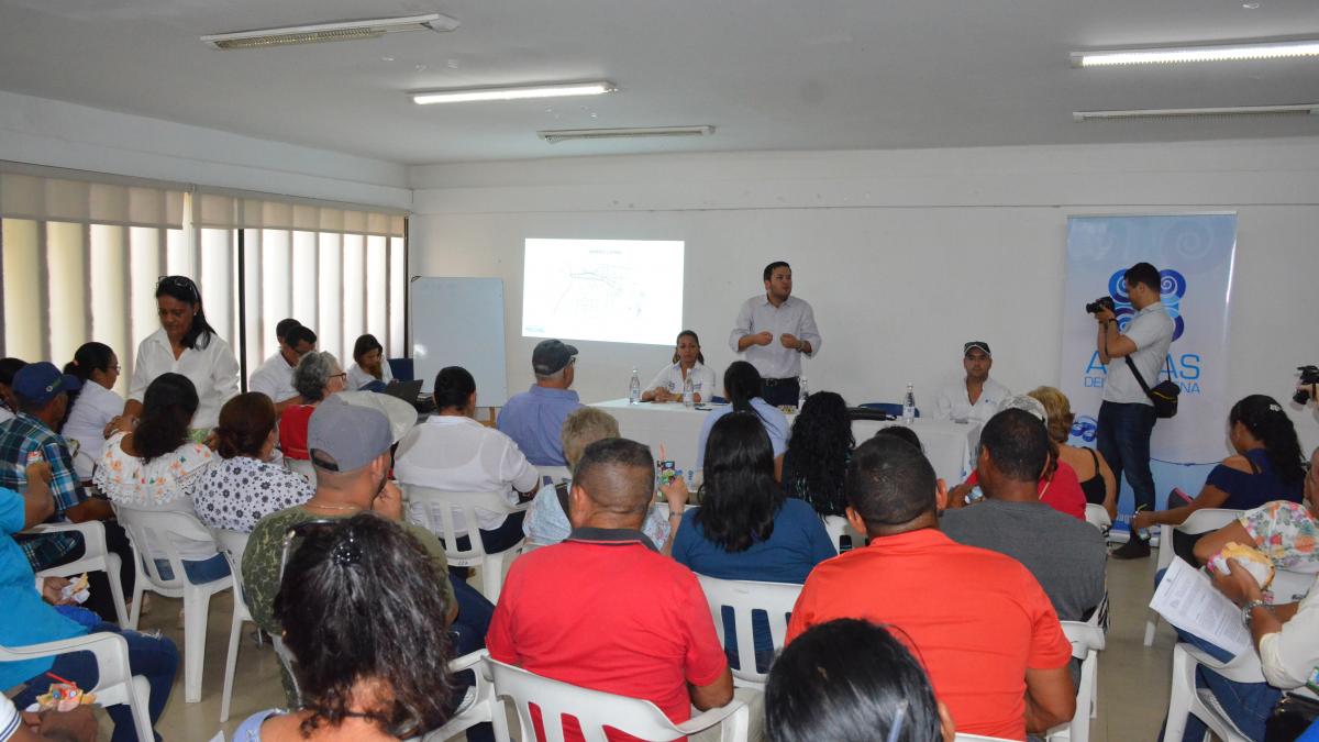
[[[1250,738],[1232,724],[1213,693],[1208,688],[1195,687],[1195,668],[1202,664],[1228,680],[1264,683],[1260,658],[1254,650],[1241,652],[1229,663],[1220,663],[1191,644],[1178,642],[1173,647],[1173,691],[1167,701],[1167,725],[1163,741],[1177,742],[1182,739],[1182,734],[1186,731],[1186,717],[1194,714],[1208,726],[1204,742],[1208,742],[1210,731],[1217,734],[1223,742],[1250,742]]]

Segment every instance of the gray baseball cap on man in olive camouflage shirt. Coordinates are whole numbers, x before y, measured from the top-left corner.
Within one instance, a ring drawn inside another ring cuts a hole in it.
[[[357,407],[331,395],[307,422],[311,463],[327,471],[353,471],[389,450],[394,437],[379,409]]]

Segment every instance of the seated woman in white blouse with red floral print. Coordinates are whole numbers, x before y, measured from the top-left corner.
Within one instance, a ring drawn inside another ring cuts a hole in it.
[[[215,458],[211,449],[187,438],[197,409],[197,389],[187,376],[170,372],[157,376],[142,395],[142,417],[137,426],[131,428],[120,419],[119,430],[106,441],[92,482],[113,503],[195,516],[189,486]],[[170,541],[183,557],[190,582],[199,585],[228,574],[228,564],[210,539],[198,541],[171,535]],[[142,544],[137,547],[141,549]],[[156,560],[161,577],[171,580],[165,547],[149,543],[145,551]]]

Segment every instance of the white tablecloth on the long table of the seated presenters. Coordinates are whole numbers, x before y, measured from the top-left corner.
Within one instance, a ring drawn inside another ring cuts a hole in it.
[[[689,409],[682,403],[642,403],[628,404],[625,399],[592,403],[619,420],[619,430],[624,438],[632,438],[650,446],[654,457],[660,449],[678,469],[687,470],[696,462],[696,437],[706,415],[703,409]],[[791,424],[795,413],[787,415]],[[901,421],[855,420],[852,436],[857,445],[867,441],[880,428],[901,425]],[[969,471],[971,452],[980,436],[979,425],[917,419],[911,429],[921,437],[925,454],[930,458],[935,474],[952,487]]]

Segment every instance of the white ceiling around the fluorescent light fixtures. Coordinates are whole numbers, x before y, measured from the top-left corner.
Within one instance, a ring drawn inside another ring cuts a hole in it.
[[[405,164],[1319,135],[1319,116],[1071,120],[1076,110],[1319,102],[1316,59],[1068,65],[1086,48],[1319,36],[1316,0],[1244,1],[0,0],[0,90]],[[463,25],[251,51],[197,38],[435,11]],[[430,107],[404,96],[584,79],[620,91]],[[718,131],[536,136],[671,124]]]

